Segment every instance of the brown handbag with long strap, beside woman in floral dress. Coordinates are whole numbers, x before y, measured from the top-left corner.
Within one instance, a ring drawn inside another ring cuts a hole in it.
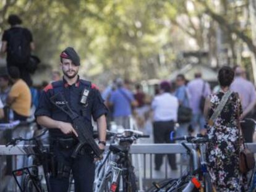
[[[239,170],[241,173],[247,173],[255,166],[254,153],[251,152],[244,143],[242,138],[241,124],[239,122],[240,108],[237,110],[237,127],[239,129]],[[241,150],[241,146],[244,148]]]

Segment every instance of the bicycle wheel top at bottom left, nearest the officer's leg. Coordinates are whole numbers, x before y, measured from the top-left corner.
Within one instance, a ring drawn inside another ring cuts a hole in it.
[[[30,175],[25,175],[22,179],[22,189],[24,192],[43,192],[41,184],[33,180]]]

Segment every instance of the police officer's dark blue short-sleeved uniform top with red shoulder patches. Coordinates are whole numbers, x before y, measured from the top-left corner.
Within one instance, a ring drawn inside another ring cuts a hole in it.
[[[87,105],[83,106],[80,104],[80,98],[85,86],[82,85],[79,78],[73,85],[68,85],[67,81],[64,79],[62,81],[63,83],[61,91],[64,93],[67,104],[69,104],[69,107],[72,109],[72,111],[82,115],[85,118],[85,120],[88,122],[88,125],[90,125],[90,130],[92,130],[92,117],[93,120],[96,120],[101,115],[106,115],[108,113],[108,109],[105,106],[103,99],[101,98],[100,91],[96,89],[95,85],[92,85],[87,98]],[[50,98],[53,95],[54,87],[51,83],[45,87],[43,93],[41,94],[38,107],[35,111],[35,117],[45,115],[54,120],[72,123],[72,120],[67,114],[65,114],[63,111],[61,111],[61,109],[58,109],[58,107],[51,103]],[[50,135],[69,136],[64,135],[64,133],[62,133],[58,128],[49,129],[49,133]]]

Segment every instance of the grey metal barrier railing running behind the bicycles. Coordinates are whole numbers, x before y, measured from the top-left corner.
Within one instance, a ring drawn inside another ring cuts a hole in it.
[[[192,144],[187,144],[192,148]],[[23,150],[24,145],[5,146],[0,145],[0,156],[21,156],[25,155]],[[256,143],[248,143],[248,148],[256,153]],[[108,146],[107,146],[108,147]],[[164,174],[162,177],[155,178],[153,175],[153,157],[154,154],[182,154],[186,153],[186,149],[181,144],[133,144],[130,148],[130,153],[133,154],[133,162],[139,178],[139,188],[145,189],[145,185],[153,180],[171,177],[168,172],[168,162],[164,162]],[[180,168],[182,169],[182,168]],[[177,175],[177,172],[176,172]],[[159,175],[158,175],[159,176]],[[177,175],[179,177],[179,175]]]

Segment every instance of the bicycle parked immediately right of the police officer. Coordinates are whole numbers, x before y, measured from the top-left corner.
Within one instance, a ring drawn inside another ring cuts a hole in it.
[[[136,178],[134,167],[130,161],[130,146],[138,138],[149,138],[141,131],[123,130],[120,133],[113,133],[108,151],[105,157],[96,166],[95,192],[136,192]],[[116,141],[116,142],[114,142]]]

